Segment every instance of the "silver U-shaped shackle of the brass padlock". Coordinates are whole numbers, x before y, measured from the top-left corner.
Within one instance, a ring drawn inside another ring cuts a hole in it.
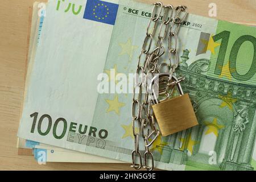
[[[153,96],[153,98],[154,98],[155,104],[159,104],[158,98],[157,98],[156,95],[155,95],[155,89],[154,89],[155,81],[156,81],[156,80],[160,80],[160,78],[162,78],[162,77],[170,77],[170,74],[171,74],[171,73],[159,73],[159,74],[156,75],[154,78],[152,78],[152,81],[151,81],[151,83],[150,83],[150,90],[152,90],[152,96]],[[177,77],[174,76],[174,75],[172,75],[172,79],[174,79],[174,81],[176,81],[176,82],[179,81],[179,79],[177,79]],[[159,83],[159,82],[158,82],[158,83]],[[184,93],[183,93],[183,90],[182,90],[182,88],[181,88],[180,83],[176,84],[176,86],[177,86],[177,90],[178,90],[179,94],[180,94],[180,95],[183,95]]]

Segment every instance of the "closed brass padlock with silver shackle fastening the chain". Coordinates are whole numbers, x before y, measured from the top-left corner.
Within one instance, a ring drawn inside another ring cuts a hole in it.
[[[170,73],[160,73],[153,78],[151,85],[154,84],[156,79],[160,80],[162,77],[169,76]],[[188,94],[183,93],[179,80],[175,76],[172,76],[172,78],[177,82],[176,87],[180,96],[161,102],[158,101],[154,89],[152,92],[155,100],[152,109],[163,137],[198,125]]]

